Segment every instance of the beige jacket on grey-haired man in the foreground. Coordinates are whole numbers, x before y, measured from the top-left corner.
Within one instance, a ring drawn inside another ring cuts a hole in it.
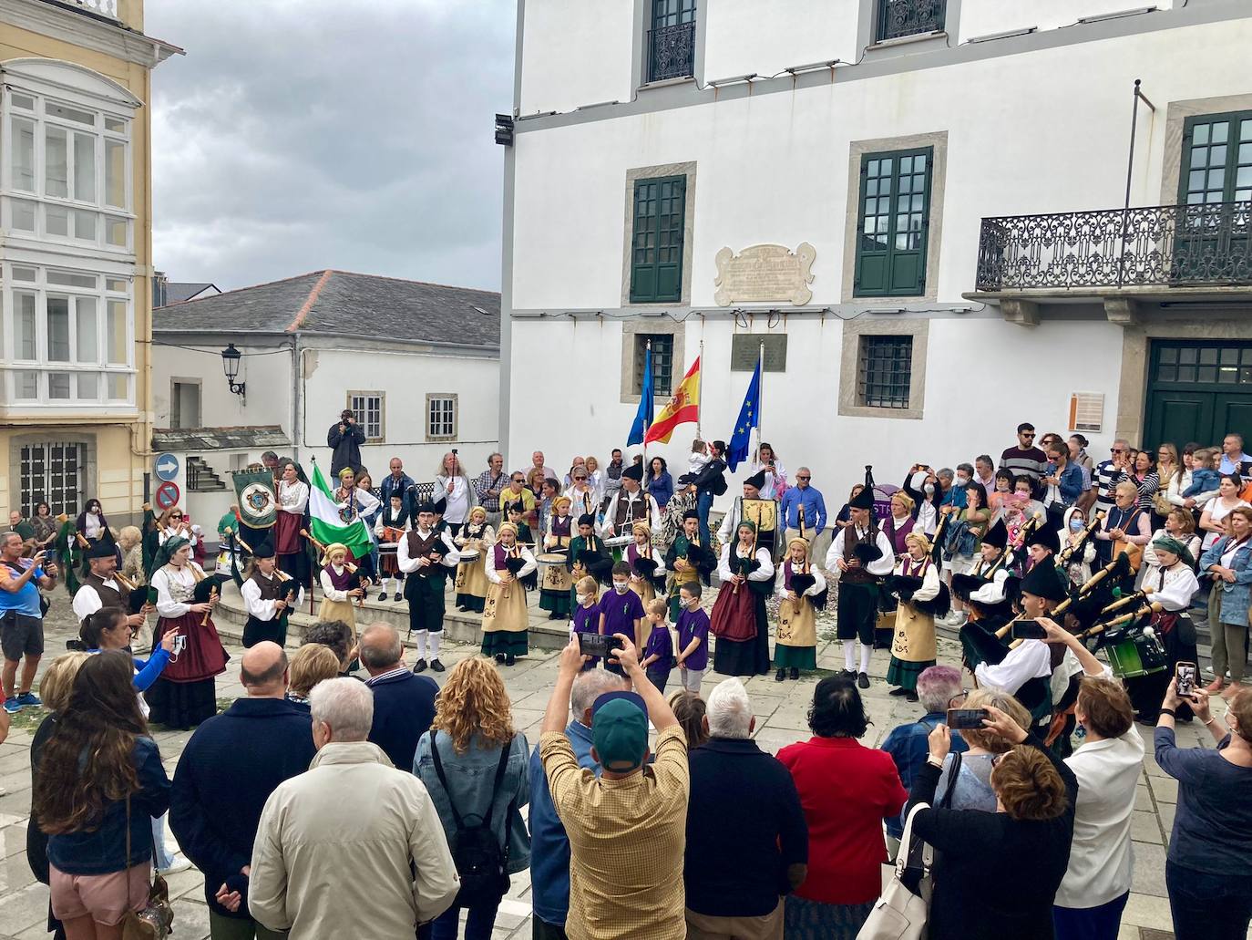
[[[458,889],[426,787],[376,744],[327,744],[265,801],[248,910],[290,940],[413,940]]]

